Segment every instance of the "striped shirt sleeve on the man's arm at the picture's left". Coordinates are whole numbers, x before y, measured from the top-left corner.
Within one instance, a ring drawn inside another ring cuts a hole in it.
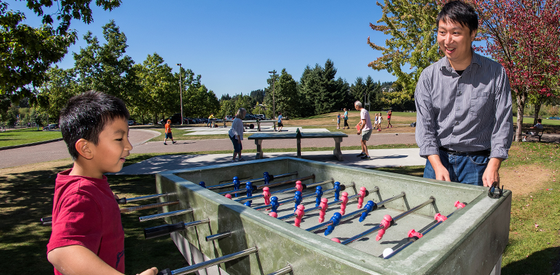
[[[437,155],[439,146],[436,140],[436,121],[432,112],[432,96],[430,91],[432,85],[429,83],[429,74],[426,70],[422,72],[416,91],[414,101],[416,104],[416,144],[420,147],[420,156]]]

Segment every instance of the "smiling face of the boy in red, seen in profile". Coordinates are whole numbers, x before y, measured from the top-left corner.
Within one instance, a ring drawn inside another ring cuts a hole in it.
[[[109,122],[99,134],[99,143],[90,146],[93,153],[93,166],[90,167],[101,173],[117,173],[132,150],[128,141],[128,122],[122,118]]]

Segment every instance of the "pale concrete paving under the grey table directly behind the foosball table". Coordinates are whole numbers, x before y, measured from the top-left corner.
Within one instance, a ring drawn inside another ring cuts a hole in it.
[[[313,151],[302,152],[302,158],[316,160],[319,162],[328,162],[332,164],[341,164],[349,166],[357,166],[361,168],[376,168],[388,166],[413,166],[424,165],[426,159],[418,155],[420,148],[403,148],[403,149],[378,149],[370,150],[372,159],[362,160],[356,157],[360,150],[342,151],[344,162],[339,162],[333,156],[333,151]],[[296,153],[266,153],[265,157],[296,157]],[[255,159],[254,153],[244,154],[243,158],[247,161]],[[132,164],[122,168],[116,175],[142,175],[155,174],[166,170],[178,170],[194,167],[202,167],[214,164],[228,164],[232,162],[232,154],[212,154],[212,155],[160,155],[146,159],[143,162]]]

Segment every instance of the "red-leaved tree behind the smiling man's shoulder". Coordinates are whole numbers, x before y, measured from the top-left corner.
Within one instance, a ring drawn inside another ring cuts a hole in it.
[[[480,17],[484,51],[501,63],[517,100],[521,140],[529,95],[559,96],[560,0],[470,0]]]

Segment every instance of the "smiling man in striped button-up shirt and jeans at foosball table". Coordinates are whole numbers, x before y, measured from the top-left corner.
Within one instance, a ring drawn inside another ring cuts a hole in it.
[[[508,77],[502,65],[473,52],[478,16],[470,5],[445,4],[436,24],[445,57],[423,70],[414,93],[424,177],[499,184],[513,137]]]

